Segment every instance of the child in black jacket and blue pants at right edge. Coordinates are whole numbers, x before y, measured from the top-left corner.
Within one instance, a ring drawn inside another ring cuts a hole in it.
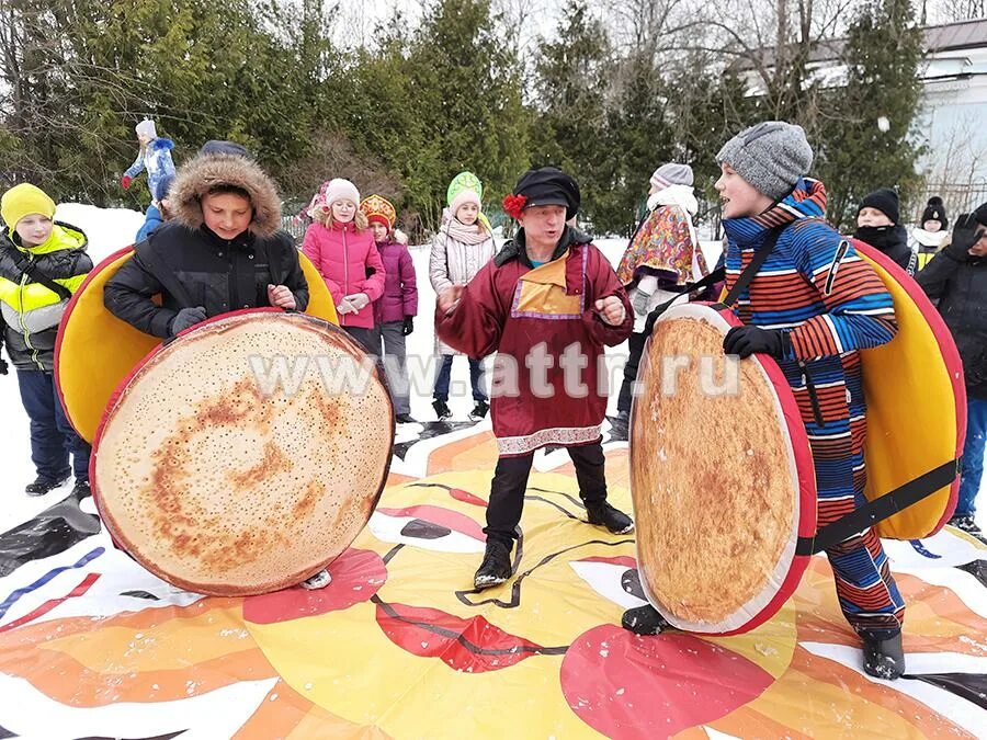
[[[987,441],[987,203],[960,216],[950,243],[918,274],[918,284],[953,333],[966,379],[966,442],[960,498],[950,524],[980,535],[974,521]]]

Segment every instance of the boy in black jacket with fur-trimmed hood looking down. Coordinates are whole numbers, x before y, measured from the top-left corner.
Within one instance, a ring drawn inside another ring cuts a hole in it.
[[[242,308],[305,309],[298,252],[280,230],[281,200],[257,163],[200,155],[181,168],[169,201],[174,219],[137,244],[107,282],[103,300],[112,314],[166,339]]]

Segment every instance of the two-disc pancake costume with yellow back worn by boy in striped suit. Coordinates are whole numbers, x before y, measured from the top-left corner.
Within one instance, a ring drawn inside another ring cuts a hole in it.
[[[867,503],[818,532],[812,452],[778,364],[724,356],[724,335],[740,326],[724,304],[654,320],[632,407],[631,489],[644,592],[680,629],[748,631],[794,592],[810,555],[872,525],[887,538],[931,536],[955,509],[966,433],[955,343],[911,277],[852,244],[890,293],[898,333],[861,352]]]

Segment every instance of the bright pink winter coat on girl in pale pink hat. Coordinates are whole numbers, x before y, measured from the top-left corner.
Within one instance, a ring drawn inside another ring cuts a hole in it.
[[[322,275],[337,306],[354,293],[371,299],[355,314],[340,315],[339,325],[373,329],[374,301],[384,294],[384,262],[373,232],[360,231],[353,223],[330,229],[316,221],[305,231],[302,251]]]

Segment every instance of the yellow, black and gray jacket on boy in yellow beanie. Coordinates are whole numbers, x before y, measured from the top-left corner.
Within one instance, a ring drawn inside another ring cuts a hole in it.
[[[0,330],[7,354],[18,369],[52,371],[55,338],[68,300],[21,269],[31,261],[48,277],[75,293],[92,270],[86,235],[67,224],[52,227],[45,243],[23,249],[10,231],[0,235]]]

